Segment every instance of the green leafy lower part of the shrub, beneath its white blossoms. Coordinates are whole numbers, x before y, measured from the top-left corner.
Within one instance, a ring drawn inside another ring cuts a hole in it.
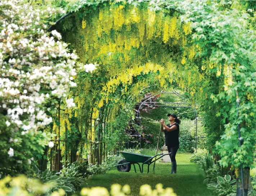
[[[1,116],[1,115],[0,115]],[[2,116],[1,121],[4,120]],[[0,122],[0,174],[6,176],[16,176],[17,174],[27,174],[31,176],[33,165],[37,164],[34,160],[41,159],[44,155],[45,149],[48,146],[49,139],[52,137],[50,132],[29,132],[22,135],[18,131],[9,132],[5,127],[5,123]],[[9,157],[8,150],[12,147],[14,149],[14,156]]]

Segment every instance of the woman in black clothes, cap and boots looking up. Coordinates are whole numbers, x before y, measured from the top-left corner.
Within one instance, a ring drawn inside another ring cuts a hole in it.
[[[170,124],[165,125],[164,119],[161,119],[161,131],[164,131],[165,134],[165,145],[167,146],[170,158],[172,161],[172,172],[176,173],[177,164],[176,164],[176,153],[179,149],[179,124],[180,119],[177,118],[175,114],[168,114]]]

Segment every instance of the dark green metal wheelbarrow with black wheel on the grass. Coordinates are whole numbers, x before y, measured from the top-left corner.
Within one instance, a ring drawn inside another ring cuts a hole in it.
[[[149,165],[151,163],[154,163],[156,160],[164,157],[165,155],[169,155],[171,153],[167,153],[167,154],[157,154],[155,156],[148,156],[148,155],[144,155],[144,154],[138,154],[138,153],[131,153],[131,152],[124,152],[124,151],[119,151],[122,155],[123,155],[123,159],[120,159],[118,161],[118,163],[115,165],[115,167],[117,167],[117,170],[119,172],[129,172],[131,170],[131,165],[133,165],[134,167],[134,171],[136,172],[136,168],[135,168],[135,164],[139,165],[140,168],[140,172],[143,173],[143,166],[145,164],[147,164],[147,173],[149,172]],[[156,160],[153,160],[155,157],[160,156],[159,158],[157,158]],[[141,169],[141,165],[139,163],[142,163],[142,169]],[[153,168],[153,173],[155,173],[155,165]]]

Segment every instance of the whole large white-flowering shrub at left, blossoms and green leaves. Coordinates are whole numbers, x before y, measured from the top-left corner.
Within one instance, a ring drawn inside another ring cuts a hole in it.
[[[52,135],[42,131],[56,103],[75,106],[67,93],[76,86],[77,55],[56,30],[46,32],[47,19],[65,11],[27,2],[0,1],[0,174],[11,167],[24,173],[24,162],[40,158],[45,145],[53,147]]]

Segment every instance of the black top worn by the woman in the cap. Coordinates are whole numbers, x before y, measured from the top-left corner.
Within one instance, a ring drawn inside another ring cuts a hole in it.
[[[166,131],[164,130],[165,135],[165,145],[166,146],[179,146],[179,124],[175,122],[173,125],[177,126],[177,129],[174,131]],[[168,127],[172,127],[173,125],[166,125]]]

